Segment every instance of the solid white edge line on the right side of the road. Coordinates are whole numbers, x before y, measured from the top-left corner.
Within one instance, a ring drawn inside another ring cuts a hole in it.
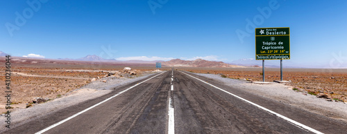
[[[183,72],[181,72],[181,73],[183,73]],[[184,74],[185,74],[185,75],[188,75],[187,73],[184,73]],[[192,75],[188,75],[188,76],[193,77]],[[193,78],[194,78],[194,79],[198,79],[198,78],[196,78],[196,77],[193,77]],[[198,79],[198,80],[201,81],[201,82],[203,82],[203,80],[201,80],[201,79]],[[251,101],[248,101],[247,99],[244,99],[244,98],[242,98],[242,97],[239,97],[239,96],[237,96],[237,95],[234,95],[234,94],[232,94],[232,93],[229,93],[228,91],[223,90],[223,89],[221,89],[221,88],[219,88],[219,87],[217,87],[217,86],[214,86],[214,85],[209,84],[209,83],[207,83],[207,82],[203,82],[203,83],[208,84],[208,85],[210,85],[210,86],[213,86],[214,88],[217,88],[217,89],[219,89],[219,90],[222,90],[222,91],[225,92],[225,93],[228,93],[229,95],[232,95],[232,96],[234,96],[234,97],[237,97],[238,99],[241,99],[241,100],[243,100],[243,101],[245,101],[245,102],[248,102],[249,104],[252,104],[252,105],[254,105],[254,106],[257,106],[258,108],[261,108],[262,110],[264,110],[264,111],[266,111],[266,112],[272,113],[273,115],[276,115],[276,116],[278,116],[278,117],[280,117],[280,118],[282,118],[282,119],[285,119],[285,120],[287,120],[288,122],[290,122],[291,124],[294,124],[295,126],[300,126],[301,128],[305,128],[306,130],[312,131],[313,133],[321,133],[320,131],[316,131],[314,128],[310,128],[310,126],[306,126],[306,125],[304,125],[304,124],[301,124],[301,123],[299,123],[299,122],[296,122],[296,121],[293,120],[293,119],[289,119],[288,117],[285,117],[285,116],[283,116],[283,115],[280,115],[279,113],[273,112],[273,111],[269,110],[268,108],[264,108],[264,107],[262,107],[262,106],[260,106],[260,105],[258,105],[258,104],[255,104],[255,103],[253,103],[253,102],[251,102]]]

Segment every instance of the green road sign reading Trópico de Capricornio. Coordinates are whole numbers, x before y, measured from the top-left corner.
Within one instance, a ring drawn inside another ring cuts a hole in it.
[[[290,59],[289,28],[255,28],[255,59]]]

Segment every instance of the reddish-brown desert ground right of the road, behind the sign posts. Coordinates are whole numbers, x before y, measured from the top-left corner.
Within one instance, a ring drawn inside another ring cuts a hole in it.
[[[218,74],[220,77],[244,79],[251,82],[262,81],[262,68],[177,68],[192,73]],[[266,68],[265,81],[280,80],[279,68]],[[347,102],[346,69],[301,69],[285,68],[283,80],[297,90],[310,95],[317,95],[327,101]]]

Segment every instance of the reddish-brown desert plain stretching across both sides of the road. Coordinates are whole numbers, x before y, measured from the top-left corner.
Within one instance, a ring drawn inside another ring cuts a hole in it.
[[[0,59],[0,87],[5,84],[5,59]],[[130,67],[135,74],[124,72],[124,67]],[[171,70],[170,66],[163,65],[162,70]],[[262,68],[198,68],[175,67],[176,70],[186,70],[192,73],[219,74],[221,77],[241,79],[250,82],[262,81]],[[99,80],[108,77],[109,73],[116,73],[115,79],[122,77],[133,78],[142,73],[155,70],[154,63],[117,63],[98,61],[65,61],[57,59],[31,59],[11,57],[11,104],[14,109],[33,106],[33,98],[42,97],[53,100],[71,93],[77,88],[89,84],[92,79]],[[280,80],[279,68],[266,68],[265,81]],[[296,92],[307,95],[324,93],[334,102],[347,101],[347,69],[310,69],[310,68],[284,68],[283,80],[292,86]],[[1,92],[4,96],[5,93]],[[5,97],[0,97],[0,112],[4,113]]]

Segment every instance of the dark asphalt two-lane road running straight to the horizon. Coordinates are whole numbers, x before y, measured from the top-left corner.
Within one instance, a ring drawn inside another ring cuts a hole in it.
[[[5,133],[37,132],[346,133],[347,125],[174,70],[66,106]]]

